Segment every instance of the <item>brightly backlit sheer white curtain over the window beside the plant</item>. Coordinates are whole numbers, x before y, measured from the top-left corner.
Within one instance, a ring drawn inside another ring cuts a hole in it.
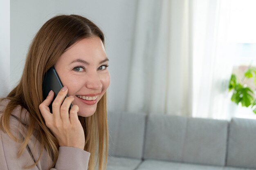
[[[230,119],[228,82],[234,57],[227,53],[230,0],[194,0],[193,117]]]

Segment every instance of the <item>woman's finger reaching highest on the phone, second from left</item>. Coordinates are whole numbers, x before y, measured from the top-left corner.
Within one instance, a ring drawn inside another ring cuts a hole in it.
[[[61,88],[61,91],[59,91],[58,95],[56,96],[56,98],[52,103],[52,112],[56,120],[61,119],[61,115],[60,115],[61,104],[67,95],[67,91],[68,91],[67,86],[64,86],[63,88]]]

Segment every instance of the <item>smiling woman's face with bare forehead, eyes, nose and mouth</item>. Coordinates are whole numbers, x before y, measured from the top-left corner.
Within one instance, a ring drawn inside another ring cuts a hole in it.
[[[99,37],[85,38],[65,51],[54,65],[72,104],[79,106],[78,115],[94,114],[97,103],[110,84],[108,58]]]

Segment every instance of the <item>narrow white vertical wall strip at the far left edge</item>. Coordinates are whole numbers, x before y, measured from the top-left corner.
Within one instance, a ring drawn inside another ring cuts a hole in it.
[[[10,80],[10,1],[0,2],[0,97],[9,92]]]

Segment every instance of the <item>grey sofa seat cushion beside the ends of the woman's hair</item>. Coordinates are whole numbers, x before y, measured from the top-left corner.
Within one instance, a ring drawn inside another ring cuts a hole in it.
[[[125,157],[108,157],[107,170],[135,170],[141,160]]]

